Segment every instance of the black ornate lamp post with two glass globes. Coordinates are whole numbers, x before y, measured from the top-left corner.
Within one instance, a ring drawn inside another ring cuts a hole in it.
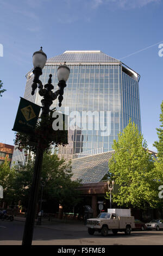
[[[42,103],[42,112],[41,112],[41,119],[44,120],[43,123],[43,132],[45,132],[45,135],[47,134],[46,129],[46,118],[48,117],[48,113],[50,111],[50,106],[53,103],[53,100],[57,99],[59,100],[59,107],[61,107],[61,102],[63,100],[63,94],[64,94],[64,88],[66,87],[66,81],[70,75],[70,69],[67,67],[66,64],[60,65],[57,70],[57,76],[58,76],[58,87],[59,90],[56,92],[52,92],[54,89],[54,86],[52,85],[52,75],[49,75],[48,83],[45,84],[44,88],[42,85],[42,82],[39,80],[40,75],[42,75],[42,69],[44,68],[46,64],[47,56],[42,51],[42,47],[40,51],[34,52],[33,54],[33,65],[34,65],[34,80],[32,84],[32,95],[34,95],[35,90],[39,88],[39,94],[43,97],[41,100]],[[27,217],[26,217],[26,223],[24,227],[24,233],[23,233],[23,240],[22,245],[30,246],[32,245],[32,239],[33,239],[33,229],[34,229],[34,222],[35,222],[35,212],[36,212],[36,203],[37,203],[37,197],[39,192],[39,182],[40,182],[40,171],[42,166],[42,159],[43,159],[43,149],[41,147],[41,138],[37,138],[37,149],[36,149],[36,156],[35,156],[35,165],[34,165],[34,174],[33,174],[33,181],[32,181],[32,187],[30,189],[30,197],[29,197],[29,203],[28,203],[28,211],[27,211]]]

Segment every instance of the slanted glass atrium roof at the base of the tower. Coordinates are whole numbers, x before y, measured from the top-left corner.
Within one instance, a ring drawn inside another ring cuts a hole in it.
[[[84,156],[72,160],[72,180],[81,179],[82,183],[99,182],[108,172],[108,161],[114,151]]]

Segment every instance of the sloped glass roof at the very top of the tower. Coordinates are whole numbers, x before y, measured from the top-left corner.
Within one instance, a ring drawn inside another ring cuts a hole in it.
[[[101,51],[65,51],[61,55],[49,58],[47,63],[121,63]]]

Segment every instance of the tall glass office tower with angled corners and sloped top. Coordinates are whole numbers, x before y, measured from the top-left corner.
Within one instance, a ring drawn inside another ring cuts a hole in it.
[[[58,66],[64,62],[70,68],[64,100],[61,108],[58,100],[51,107],[70,117],[69,144],[59,148],[59,156],[73,159],[112,150],[114,139],[129,119],[141,131],[137,72],[101,51],[66,51],[49,58],[42,70],[43,84],[52,74],[54,91],[58,89]],[[33,72],[26,77],[24,98],[41,105],[38,90],[31,95]]]

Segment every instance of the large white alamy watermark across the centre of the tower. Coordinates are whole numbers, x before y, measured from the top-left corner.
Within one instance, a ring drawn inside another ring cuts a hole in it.
[[[54,112],[53,130],[89,130],[100,131],[100,136],[111,133],[111,111],[69,111],[65,107],[65,127],[62,112]]]

